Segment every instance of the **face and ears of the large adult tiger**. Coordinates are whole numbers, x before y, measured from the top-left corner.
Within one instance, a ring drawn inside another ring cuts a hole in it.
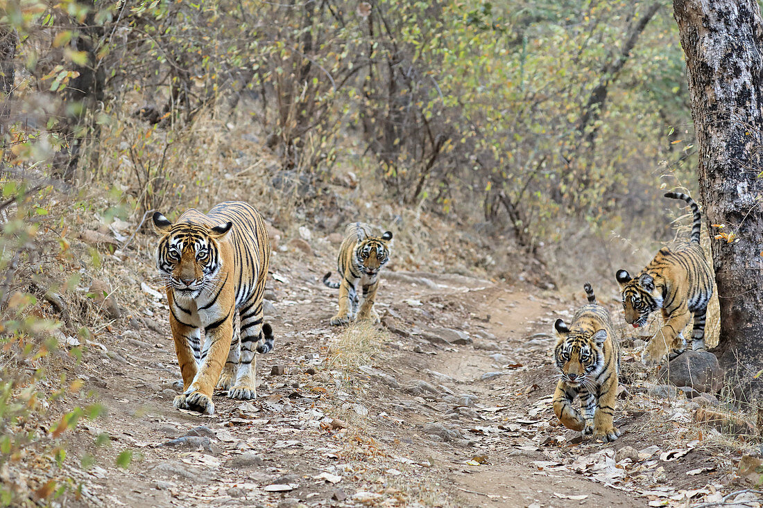
[[[219,240],[233,223],[214,227],[201,224],[172,224],[162,214],[153,215],[156,231],[163,234],[156,248],[156,268],[164,285],[175,296],[193,300],[220,272],[222,259]]]

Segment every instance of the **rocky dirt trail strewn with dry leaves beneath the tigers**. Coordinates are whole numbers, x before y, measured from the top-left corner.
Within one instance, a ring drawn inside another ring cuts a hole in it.
[[[153,269],[138,261],[137,273]],[[608,445],[555,426],[549,332],[580,301],[388,271],[378,293],[381,342],[359,347],[357,358],[371,359],[357,363],[347,342],[343,356],[332,349],[348,334],[328,324],[336,291],[321,278],[330,268],[328,251],[276,253],[275,349],[258,355],[258,397],[216,394],[213,416],[172,408],[179,369],[166,301],[133,302],[153,313],[143,320],[150,328],[97,336],[79,376],[108,408],[86,429],[108,432],[111,450],[80,437],[82,452],[98,459],[88,471],[69,467],[85,484],[85,505],[645,506],[707,483],[687,470],[716,470],[700,452],[661,464],[659,452],[680,445],[639,427],[645,411],[619,409],[623,436]],[[652,449],[616,465],[624,445]],[[133,452],[129,467],[108,467],[123,450]]]

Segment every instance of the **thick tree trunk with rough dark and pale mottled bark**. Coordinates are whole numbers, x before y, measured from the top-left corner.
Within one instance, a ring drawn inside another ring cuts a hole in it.
[[[763,21],[755,0],[674,0],[699,146],[700,195],[720,297],[728,375],[749,386],[763,368]]]

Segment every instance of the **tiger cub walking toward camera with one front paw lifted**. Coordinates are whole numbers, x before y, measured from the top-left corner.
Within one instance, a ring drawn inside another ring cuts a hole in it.
[[[596,303],[591,285],[584,285],[588,304],[580,307],[572,323],[556,320],[559,340],[554,360],[559,368],[559,383],[554,392],[554,413],[568,429],[593,433],[604,442],[620,437],[612,418],[617,400],[620,374],[620,345],[613,333],[610,313]],[[572,407],[580,396],[581,413]]]

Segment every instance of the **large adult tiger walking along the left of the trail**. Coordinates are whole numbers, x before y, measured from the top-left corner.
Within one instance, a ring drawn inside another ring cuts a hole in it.
[[[163,235],[156,267],[183,378],[173,405],[212,414],[215,385],[233,399],[256,397],[255,348],[273,348],[272,327],[262,323],[270,259],[262,216],[249,204],[227,201],[208,214],[191,208],[174,224],[156,212],[153,224]]]

